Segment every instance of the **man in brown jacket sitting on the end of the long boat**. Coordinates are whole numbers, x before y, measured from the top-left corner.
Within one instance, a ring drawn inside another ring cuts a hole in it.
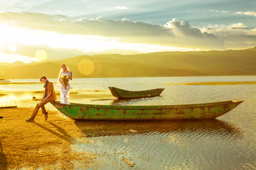
[[[45,110],[45,104],[47,104],[48,102],[54,102],[57,99],[55,90],[53,87],[53,83],[49,82],[45,76],[40,78],[40,82],[43,82],[45,84],[45,86],[43,86],[45,88],[45,93],[43,94],[43,98],[42,98],[41,102],[39,102],[39,104],[37,104],[37,106],[35,106],[35,110],[31,116],[31,118],[26,120],[27,122],[34,121],[35,116],[37,116],[37,112],[40,108],[41,108],[43,114],[45,114],[45,121],[47,121],[48,112],[46,112],[46,110]]]

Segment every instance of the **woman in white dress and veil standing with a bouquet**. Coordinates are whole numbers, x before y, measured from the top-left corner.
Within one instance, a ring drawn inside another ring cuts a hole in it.
[[[67,82],[67,86],[61,81],[61,75],[62,74],[68,74],[69,80],[72,80],[72,72],[69,71],[69,68],[65,65],[61,65],[62,72],[59,74],[59,82],[61,83],[61,104],[69,104],[69,90],[71,89],[71,86],[69,84],[69,81]]]

